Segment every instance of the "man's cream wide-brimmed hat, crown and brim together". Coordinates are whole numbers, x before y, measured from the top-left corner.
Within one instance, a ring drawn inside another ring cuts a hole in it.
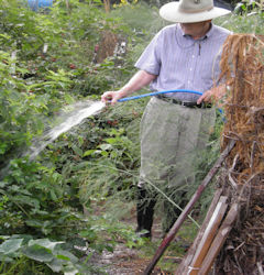
[[[196,23],[230,13],[231,11],[213,7],[212,0],[179,0],[169,2],[160,9],[160,15],[170,22]]]

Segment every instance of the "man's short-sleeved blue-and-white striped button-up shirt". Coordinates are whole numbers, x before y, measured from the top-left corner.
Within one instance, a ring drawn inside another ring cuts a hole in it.
[[[165,26],[151,41],[135,67],[157,75],[151,89],[157,91],[188,89],[205,92],[218,82],[221,47],[231,32],[211,25],[208,33],[194,40],[179,24]],[[167,94],[184,101],[197,101],[198,95]]]

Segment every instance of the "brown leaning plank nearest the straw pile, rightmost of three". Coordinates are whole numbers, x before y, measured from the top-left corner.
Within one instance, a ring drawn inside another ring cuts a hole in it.
[[[206,275],[209,273],[215,258],[219,254],[220,249],[222,248],[224,241],[228,238],[230,230],[232,229],[232,224],[235,221],[238,213],[239,213],[239,205],[233,204],[231,206],[228,215],[227,215],[227,218],[223,220],[222,226],[220,227],[218,234],[216,235],[216,238],[211,244],[211,248],[209,249],[209,251],[208,251],[208,253],[202,262],[202,266],[201,266],[198,275]]]

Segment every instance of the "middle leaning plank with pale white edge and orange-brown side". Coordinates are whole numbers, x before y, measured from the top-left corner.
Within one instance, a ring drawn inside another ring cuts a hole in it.
[[[208,223],[208,227],[205,231],[205,234],[201,238],[201,241],[197,248],[197,251],[196,251],[196,254],[195,254],[194,260],[191,262],[191,265],[189,266],[189,272],[188,272],[189,275],[197,275],[198,271],[201,267],[202,261],[208,253],[208,250],[213,241],[213,238],[217,234],[219,224],[222,221],[222,218],[223,218],[226,210],[228,208],[227,199],[228,199],[228,197],[221,196],[218,204],[217,204],[217,207],[216,207],[213,215]]]

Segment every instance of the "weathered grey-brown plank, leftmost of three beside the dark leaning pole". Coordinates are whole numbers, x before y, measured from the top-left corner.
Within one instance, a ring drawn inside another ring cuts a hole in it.
[[[206,215],[206,218],[201,224],[201,228],[199,230],[199,232],[197,233],[197,237],[195,239],[195,241],[193,242],[191,246],[189,248],[188,250],[188,253],[185,255],[185,257],[183,258],[183,261],[180,262],[180,264],[178,265],[176,272],[175,272],[175,275],[179,275],[179,274],[187,274],[188,272],[188,266],[190,265],[193,258],[194,258],[194,255],[196,253],[196,250],[197,250],[197,246],[208,227],[208,223],[212,217],[212,213],[217,207],[217,204],[219,201],[219,198],[222,194],[222,189],[218,189],[216,193],[215,193],[215,196],[211,200],[211,204],[210,204],[210,207],[207,211],[207,215]]]

